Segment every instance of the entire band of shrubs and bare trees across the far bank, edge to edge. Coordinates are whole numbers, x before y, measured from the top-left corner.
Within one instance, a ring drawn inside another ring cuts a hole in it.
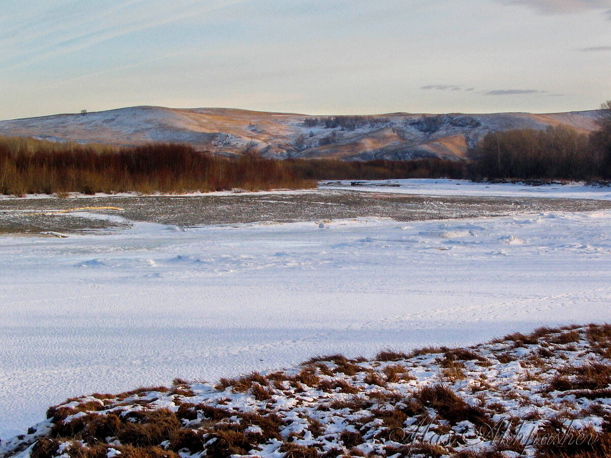
[[[327,119],[345,128],[374,122]],[[316,180],[390,178],[611,180],[611,101],[603,104],[597,122],[599,130],[591,134],[566,127],[491,132],[462,161],[274,160],[255,153],[224,158],[181,144],[112,148],[0,137],[0,194],[258,191],[310,188]]]

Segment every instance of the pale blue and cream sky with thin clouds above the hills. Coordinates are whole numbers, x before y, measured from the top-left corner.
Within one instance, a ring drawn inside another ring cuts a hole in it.
[[[611,99],[611,0],[0,0],[0,119],[126,106],[559,112]]]

